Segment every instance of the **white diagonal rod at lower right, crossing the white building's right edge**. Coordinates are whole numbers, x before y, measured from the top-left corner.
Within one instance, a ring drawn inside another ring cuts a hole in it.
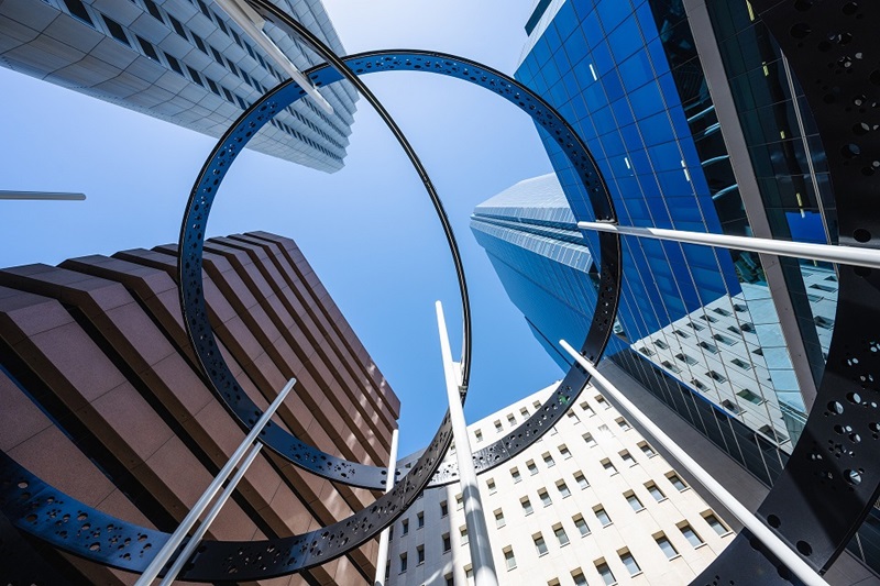
[[[773,553],[779,560],[785,564],[804,584],[807,586],[827,586],[827,583],[820,576],[815,570],[804,562],[804,560],[794,551],[791,550],[776,533],[773,533],[763,522],[758,519],[750,510],[743,506],[730,493],[727,491],[712,475],[706,472],[694,458],[679,447],[679,444],[663,433],[663,431],[654,424],[651,419],[642,413],[632,402],[627,399],[610,382],[602,376],[596,371],[593,363],[581,356],[581,353],[571,347],[564,340],[559,341],[560,345],[565,349],[578,364],[590,373],[591,382],[595,384],[603,392],[614,398],[624,410],[629,412],[629,416],[638,421],[645,429],[653,435],[660,445],[672,454],[672,457],[679,461],[684,468],[693,474],[693,476],[712,493],[712,495],[727,507],[739,522],[741,522],[755,537],[761,540],[770,552]]]

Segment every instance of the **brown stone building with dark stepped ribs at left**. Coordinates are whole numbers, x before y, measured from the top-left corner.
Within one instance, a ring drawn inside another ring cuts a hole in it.
[[[265,408],[296,377],[274,421],[324,452],[387,465],[399,401],[296,244],[249,233],[205,250],[206,300],[242,388]],[[244,439],[195,365],[175,270],[172,245],[0,270],[0,450],[91,507],[166,532]],[[206,539],[298,534],[375,497],[264,450]],[[136,578],[30,546],[72,584]],[[372,584],[376,546],[266,583]]]

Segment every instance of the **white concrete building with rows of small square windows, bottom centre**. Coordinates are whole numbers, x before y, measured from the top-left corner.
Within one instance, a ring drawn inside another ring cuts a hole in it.
[[[472,446],[518,425],[554,388],[469,425]],[[592,387],[530,450],[479,479],[501,584],[688,584],[734,535]],[[427,490],[393,526],[386,585],[465,585],[470,574],[459,485]]]

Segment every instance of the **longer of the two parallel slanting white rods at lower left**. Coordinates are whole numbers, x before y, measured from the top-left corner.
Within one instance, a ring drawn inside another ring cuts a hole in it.
[[[245,452],[256,441],[256,438],[263,431],[263,428],[266,427],[268,420],[275,413],[275,411],[280,407],[282,402],[284,402],[285,397],[290,392],[290,389],[294,388],[296,384],[296,378],[292,378],[287,382],[284,388],[278,392],[278,396],[272,401],[272,405],[268,406],[268,409],[263,411],[263,414],[260,416],[260,419],[254,423],[254,427],[244,438],[244,441],[241,442],[235,452],[232,454],[232,457],[229,458],[229,462],[223,466],[220,473],[215,477],[208,488],[205,489],[205,493],[199,497],[196,501],[196,505],[193,509],[187,513],[184,521],[180,526],[172,533],[172,537],[168,539],[167,543],[156,553],[156,556],[153,557],[153,561],[150,562],[150,565],[146,566],[144,573],[141,574],[141,577],[138,578],[138,582],[134,583],[134,586],[150,586],[153,584],[153,581],[156,579],[158,573],[162,572],[162,568],[165,567],[165,564],[168,563],[168,560],[172,559],[172,555],[180,545],[180,543],[186,538],[187,533],[193,529],[193,526],[196,524],[201,513],[205,512],[205,509],[208,508],[208,505],[211,504],[211,500],[220,491],[220,488],[223,486],[223,483],[227,478],[229,478],[232,471],[235,469],[235,466],[239,465],[241,458],[244,457]]]

